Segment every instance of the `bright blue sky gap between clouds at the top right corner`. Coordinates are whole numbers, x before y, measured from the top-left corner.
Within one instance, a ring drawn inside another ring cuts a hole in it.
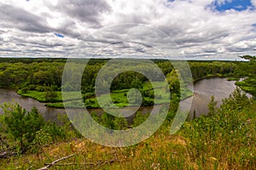
[[[247,8],[252,8],[253,4],[250,0],[233,0],[231,2],[225,1],[222,4],[218,4],[217,1],[213,3],[213,6],[220,12],[225,10],[235,9],[236,11],[246,10]]]

